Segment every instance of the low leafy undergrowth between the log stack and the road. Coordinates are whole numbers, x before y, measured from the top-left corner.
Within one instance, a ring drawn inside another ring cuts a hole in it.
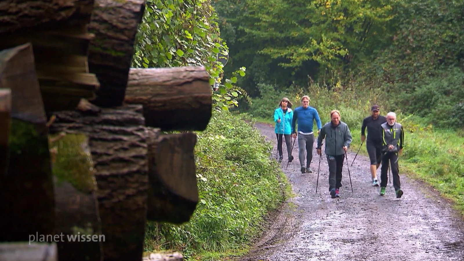
[[[240,117],[214,112],[197,135],[199,205],[185,225],[150,224],[147,250],[171,248],[192,258],[240,251],[258,235],[264,215],[284,200],[271,144]]]

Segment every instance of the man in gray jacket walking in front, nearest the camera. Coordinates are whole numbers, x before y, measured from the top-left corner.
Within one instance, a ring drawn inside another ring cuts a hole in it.
[[[340,111],[330,111],[330,122],[322,126],[317,137],[317,154],[321,155],[322,140],[325,138],[325,154],[329,163],[329,191],[332,198],[340,196],[342,168],[345,153],[351,144],[348,125],[340,121]]]

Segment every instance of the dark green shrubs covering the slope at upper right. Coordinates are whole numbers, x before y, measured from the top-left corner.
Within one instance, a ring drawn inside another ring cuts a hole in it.
[[[404,0],[397,11],[392,45],[358,63],[356,81],[382,89],[392,107],[427,124],[464,126],[464,3]]]

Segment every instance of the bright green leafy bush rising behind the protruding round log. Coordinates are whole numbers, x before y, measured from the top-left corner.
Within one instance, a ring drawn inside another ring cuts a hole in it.
[[[218,88],[213,95],[215,108],[238,106],[246,92],[236,86],[245,67],[223,80],[228,47],[219,37],[217,15],[210,0],[147,0],[146,12],[136,37],[133,66],[205,66],[210,84]]]

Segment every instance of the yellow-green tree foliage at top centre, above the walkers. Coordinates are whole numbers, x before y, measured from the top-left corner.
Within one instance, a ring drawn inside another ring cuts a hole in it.
[[[232,61],[251,69],[244,88],[253,94],[257,83],[304,85],[308,76],[317,78],[327,68],[338,71],[354,56],[388,46],[395,4],[396,0],[214,1]]]

